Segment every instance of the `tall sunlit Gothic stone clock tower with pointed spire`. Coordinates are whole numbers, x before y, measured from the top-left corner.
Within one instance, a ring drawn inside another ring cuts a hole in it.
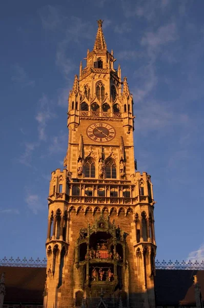
[[[133,97],[99,20],[68,100],[65,169],[52,172],[44,307],[155,307],[151,177],[135,171]]]

